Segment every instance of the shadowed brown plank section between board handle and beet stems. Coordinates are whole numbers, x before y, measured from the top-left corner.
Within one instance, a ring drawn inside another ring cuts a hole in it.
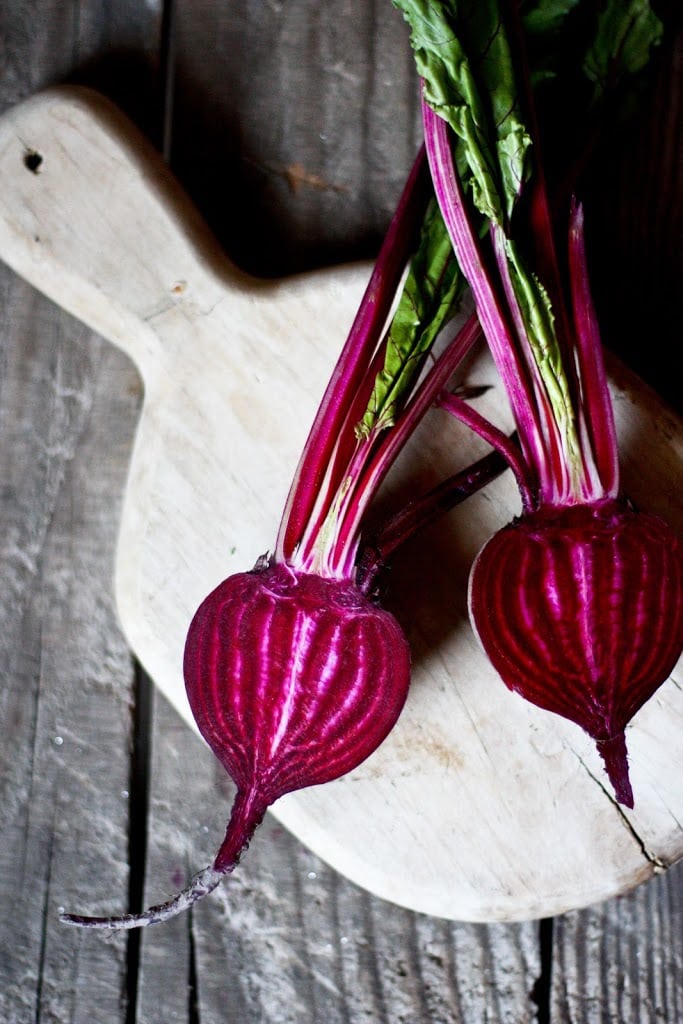
[[[389,0],[180,0],[171,165],[231,257],[282,274],[374,254],[419,145]]]

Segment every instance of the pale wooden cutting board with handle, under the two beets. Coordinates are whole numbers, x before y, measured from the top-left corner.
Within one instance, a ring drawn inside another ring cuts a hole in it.
[[[159,157],[85,90],[50,91],[0,119],[0,257],[142,377],[116,593],[132,648],[191,725],[181,678],[189,618],[273,545],[369,267],[274,283],[241,273]],[[479,408],[508,428],[483,354],[466,379],[493,385]],[[681,423],[620,366],[610,380],[627,488],[681,531]],[[383,504],[482,451],[432,412]],[[396,560],[385,603],[407,625],[415,663],[400,722],[351,775],[273,808],[358,885],[443,918],[555,914],[626,892],[683,855],[681,665],[628,729],[632,813],[614,804],[588,737],[509,693],[477,648],[468,569],[518,511],[507,474]]]

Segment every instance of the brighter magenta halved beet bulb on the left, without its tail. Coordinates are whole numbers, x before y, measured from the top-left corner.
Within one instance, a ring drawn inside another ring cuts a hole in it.
[[[200,732],[265,806],[379,746],[405,700],[410,653],[393,615],[353,583],[274,564],[229,577],[200,605],[184,674]]]

